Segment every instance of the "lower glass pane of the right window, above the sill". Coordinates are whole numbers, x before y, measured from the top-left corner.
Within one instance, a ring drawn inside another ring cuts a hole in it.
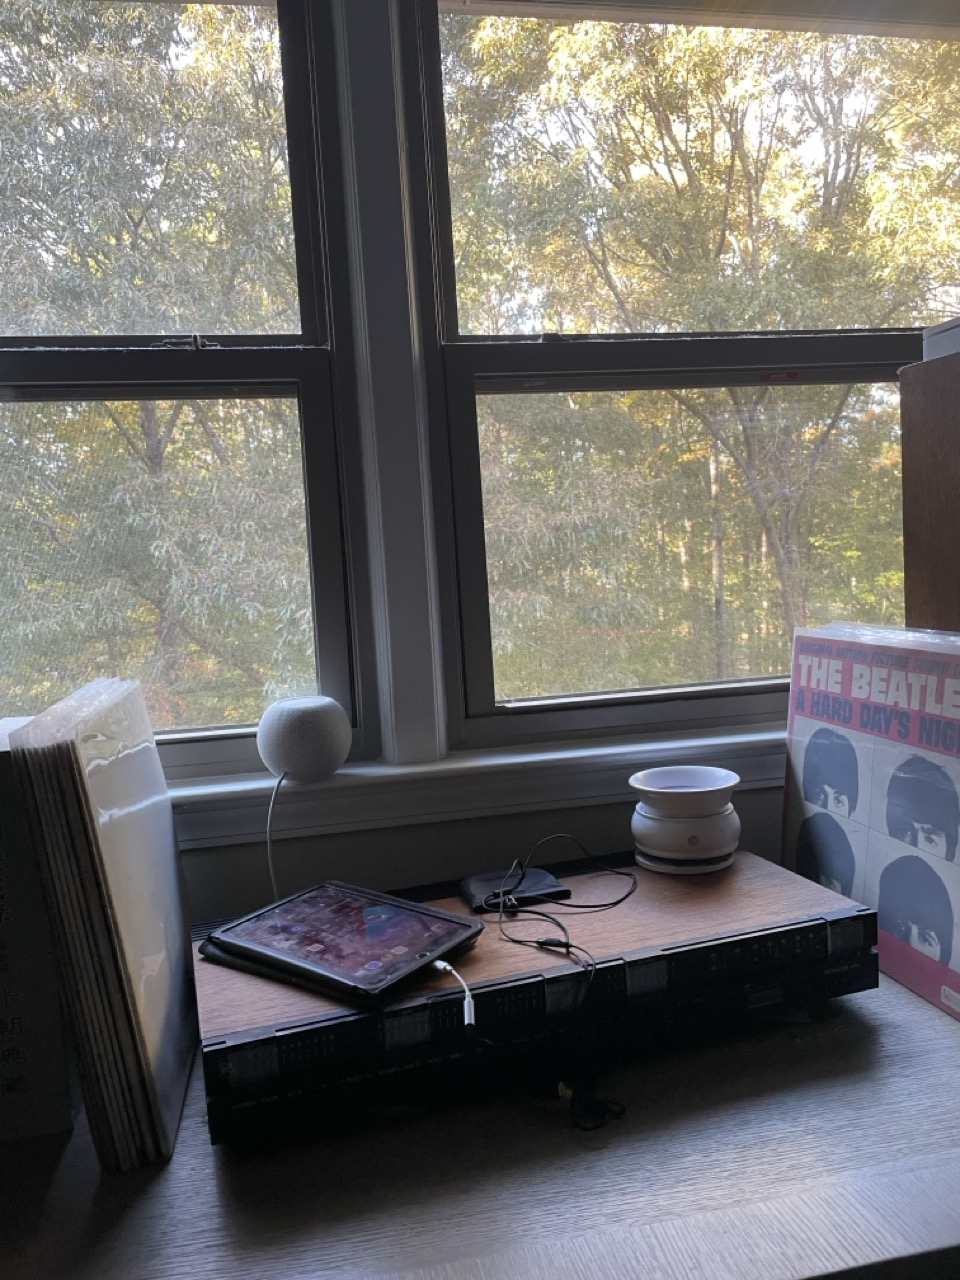
[[[895,385],[484,396],[498,700],[786,675],[902,623]]]

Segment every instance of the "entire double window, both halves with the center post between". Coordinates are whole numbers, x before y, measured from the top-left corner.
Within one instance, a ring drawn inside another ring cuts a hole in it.
[[[396,765],[759,739],[794,622],[896,621],[960,41],[730,6],[0,0],[3,712],[109,664],[183,777],[316,687]]]

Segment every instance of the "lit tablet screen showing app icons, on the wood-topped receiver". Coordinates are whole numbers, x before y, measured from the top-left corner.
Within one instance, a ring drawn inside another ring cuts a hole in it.
[[[339,884],[298,897],[218,931],[224,941],[264,948],[361,986],[383,987],[475,932],[416,904],[379,901]]]

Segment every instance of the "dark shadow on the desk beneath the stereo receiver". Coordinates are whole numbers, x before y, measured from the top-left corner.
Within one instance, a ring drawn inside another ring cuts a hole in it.
[[[511,1185],[522,1188],[521,1199],[495,1213],[512,1217],[536,1203],[538,1213],[570,1222],[593,1194],[594,1178],[608,1187],[614,1167],[628,1165],[622,1174],[637,1193],[637,1157],[653,1165],[668,1151],[675,1169],[687,1167],[684,1197],[699,1207],[707,1181],[718,1189],[716,1165],[704,1160],[704,1134],[750,1147],[760,1140],[759,1116],[776,1124],[797,1091],[831,1096],[844,1080],[868,1079],[877,1056],[874,1023],[841,1002],[724,1033],[687,1032],[608,1064],[595,1093],[623,1111],[589,1132],[575,1126],[548,1064],[518,1061],[513,1079],[504,1080],[507,1059],[504,1071],[474,1097],[457,1097],[438,1082],[429,1100],[328,1126],[320,1139],[285,1134],[218,1148],[218,1187],[239,1236],[261,1243],[351,1217],[362,1229],[371,1204],[379,1211],[389,1204],[397,1222],[438,1198],[461,1199],[470,1213],[476,1196],[499,1198],[504,1170]]]

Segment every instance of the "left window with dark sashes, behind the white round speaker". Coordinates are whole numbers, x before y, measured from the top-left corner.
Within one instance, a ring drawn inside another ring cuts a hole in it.
[[[285,0],[0,4],[3,714],[110,671],[157,730],[358,721],[332,46]]]

